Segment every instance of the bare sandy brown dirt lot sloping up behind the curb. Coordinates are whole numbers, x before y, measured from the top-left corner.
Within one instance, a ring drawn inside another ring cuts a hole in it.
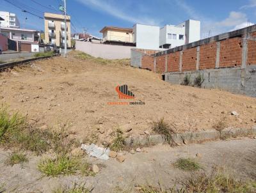
[[[134,100],[119,99],[118,85],[127,84]],[[125,135],[143,135],[152,121],[164,117],[177,132],[212,128],[225,118],[228,127],[256,125],[256,98],[217,89],[171,85],[147,70],[54,57],[0,72],[0,104],[38,120],[39,127],[68,123],[75,137],[94,134],[110,141],[120,127]],[[108,102],[145,102],[109,105]],[[239,116],[232,116],[236,111]]]

